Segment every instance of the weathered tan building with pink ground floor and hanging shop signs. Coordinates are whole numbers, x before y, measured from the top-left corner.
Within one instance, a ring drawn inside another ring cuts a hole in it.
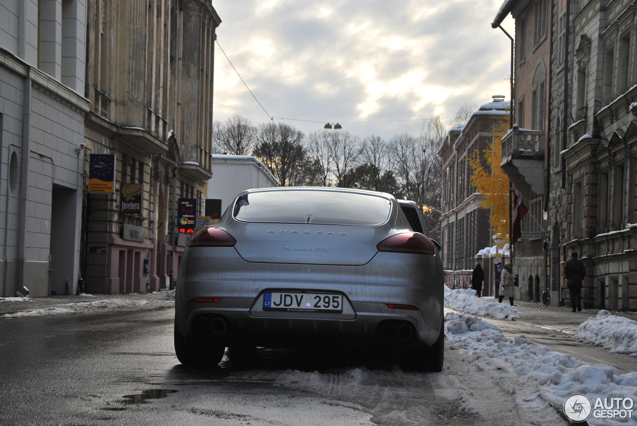
[[[97,293],[170,287],[186,235],[177,230],[180,198],[203,216],[211,177],[215,29],[210,0],[90,0],[89,154],[115,155],[113,193],[85,185],[85,289]],[[140,209],[123,209],[141,184]]]

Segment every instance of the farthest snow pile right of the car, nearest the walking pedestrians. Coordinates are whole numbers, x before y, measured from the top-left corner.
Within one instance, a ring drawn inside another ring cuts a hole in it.
[[[445,306],[457,311],[478,315],[478,317],[491,317],[496,319],[513,319],[520,315],[515,306],[506,303],[493,303],[488,298],[476,297],[476,291],[472,289],[451,290],[445,285]]]

